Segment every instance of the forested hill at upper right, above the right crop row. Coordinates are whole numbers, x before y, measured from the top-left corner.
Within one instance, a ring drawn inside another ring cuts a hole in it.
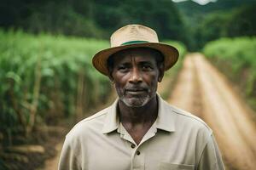
[[[256,35],[256,0],[218,0],[206,5],[185,1],[175,6],[183,15],[190,50],[220,37]]]

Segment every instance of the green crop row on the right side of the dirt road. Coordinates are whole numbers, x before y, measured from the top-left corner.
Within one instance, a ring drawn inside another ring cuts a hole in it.
[[[238,84],[256,111],[256,37],[222,38],[208,42],[203,53]]]

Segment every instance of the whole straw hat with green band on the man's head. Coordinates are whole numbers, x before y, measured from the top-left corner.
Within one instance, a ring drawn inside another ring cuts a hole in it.
[[[95,54],[92,63],[96,70],[108,76],[108,57],[127,48],[154,48],[165,57],[165,70],[177,62],[177,49],[158,40],[156,32],[141,25],[128,25],[113,32],[110,37],[111,48],[103,49]]]

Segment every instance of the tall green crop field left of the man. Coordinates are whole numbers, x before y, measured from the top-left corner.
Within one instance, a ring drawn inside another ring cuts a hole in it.
[[[0,30],[0,130],[26,131],[36,121],[83,116],[108,98],[108,77],[92,68],[108,42],[73,37],[34,37]]]

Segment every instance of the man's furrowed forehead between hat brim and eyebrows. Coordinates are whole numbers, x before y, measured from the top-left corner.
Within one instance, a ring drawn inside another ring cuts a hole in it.
[[[128,48],[113,54],[114,63],[137,61],[156,62],[157,51],[151,48]]]

